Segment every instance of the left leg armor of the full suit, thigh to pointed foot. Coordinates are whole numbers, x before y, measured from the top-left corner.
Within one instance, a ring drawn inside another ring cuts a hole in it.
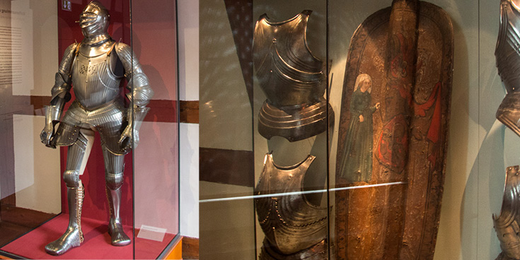
[[[67,184],[67,200],[69,203],[69,227],[59,239],[45,246],[49,254],[60,255],[72,247],[79,247],[83,242],[81,231],[81,206],[83,206],[84,189],[79,179],[81,160],[85,155],[87,139],[82,134],[67,152],[67,169],[63,173],[63,179]]]

